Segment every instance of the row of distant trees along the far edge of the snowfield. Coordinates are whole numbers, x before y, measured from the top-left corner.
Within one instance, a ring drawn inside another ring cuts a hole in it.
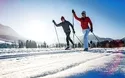
[[[109,48],[113,48],[113,47],[125,47],[125,42],[124,41],[102,41],[102,42],[98,42],[98,43],[94,43],[92,41],[90,41],[89,43],[89,47],[94,48],[94,47],[109,47]],[[0,48],[48,48],[49,46],[47,45],[46,42],[43,43],[39,43],[37,44],[37,42],[33,41],[33,40],[26,40],[26,41],[21,41],[18,40],[18,43],[1,43],[0,44]],[[51,47],[55,47],[55,48],[61,48],[61,47],[66,47],[66,44],[64,43],[60,43],[60,44],[53,44]],[[72,45],[71,45],[72,47]],[[81,44],[80,42],[75,44],[75,48],[82,48],[83,44]]]

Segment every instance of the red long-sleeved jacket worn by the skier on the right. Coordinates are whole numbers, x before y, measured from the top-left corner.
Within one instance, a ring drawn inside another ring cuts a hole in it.
[[[92,22],[89,17],[78,18],[75,13],[74,13],[74,17],[75,19],[81,22],[82,29],[88,29],[89,28],[88,23],[90,24],[90,27],[92,28]]]

